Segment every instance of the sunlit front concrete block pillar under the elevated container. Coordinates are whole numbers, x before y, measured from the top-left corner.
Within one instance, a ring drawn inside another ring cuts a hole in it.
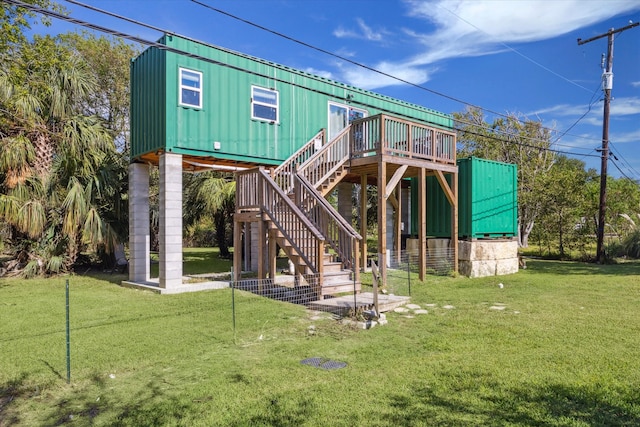
[[[160,287],[182,285],[182,156],[160,155]]]

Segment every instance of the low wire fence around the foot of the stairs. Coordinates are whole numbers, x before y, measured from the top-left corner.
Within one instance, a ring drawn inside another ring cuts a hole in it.
[[[382,312],[408,302],[412,287],[420,285],[419,256],[414,251],[393,251],[372,254],[368,259],[359,282],[354,280],[353,272],[346,275],[343,272],[340,278],[325,275],[324,283],[317,274],[231,280],[234,334],[247,337],[239,338],[240,342],[272,336],[274,325],[282,318],[282,310],[268,300],[301,305],[308,309],[306,316],[309,318],[351,319],[364,328],[372,320],[379,322],[384,318]],[[453,271],[453,250],[432,251],[425,262],[428,275],[448,275]],[[386,267],[384,281],[381,277],[383,263]],[[255,310],[273,310],[273,320],[264,324],[252,322],[256,317]],[[287,327],[283,325],[285,330]]]

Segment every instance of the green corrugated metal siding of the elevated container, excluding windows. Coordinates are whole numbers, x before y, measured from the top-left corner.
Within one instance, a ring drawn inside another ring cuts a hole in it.
[[[176,36],[164,36],[160,43],[218,62],[155,48],[147,49],[134,61],[132,76],[136,79],[158,81],[159,69],[163,68],[166,96],[164,102],[157,102],[157,97],[135,98],[134,110],[139,114],[132,112],[132,129],[155,122],[157,110],[164,108],[160,113],[166,120],[166,138],[161,140],[161,147],[168,151],[279,164],[327,127],[328,101],[365,109],[369,115],[385,112],[445,128],[453,124],[450,115],[248,55]],[[203,73],[202,109],[178,106],[179,67]],[[280,123],[251,120],[251,85],[278,90]],[[137,86],[140,84],[132,83],[132,87]],[[214,149],[214,142],[220,143],[219,150]],[[139,138],[132,138],[134,143],[139,143],[132,148],[134,157],[160,148]]]

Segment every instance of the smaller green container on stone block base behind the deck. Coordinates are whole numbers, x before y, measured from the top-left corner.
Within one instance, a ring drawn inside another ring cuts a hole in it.
[[[458,236],[471,239],[517,236],[517,166],[477,157],[458,159],[457,163]],[[447,181],[450,182],[450,176]],[[436,177],[427,177],[426,187],[427,235],[451,237],[451,206]]]

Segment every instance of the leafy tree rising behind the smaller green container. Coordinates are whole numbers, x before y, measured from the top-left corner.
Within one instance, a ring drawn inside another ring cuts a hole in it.
[[[516,115],[489,124],[483,112],[469,108],[454,114],[459,156],[476,156],[518,165],[518,241],[527,247],[540,214],[541,177],[554,160],[551,132],[542,123]]]

